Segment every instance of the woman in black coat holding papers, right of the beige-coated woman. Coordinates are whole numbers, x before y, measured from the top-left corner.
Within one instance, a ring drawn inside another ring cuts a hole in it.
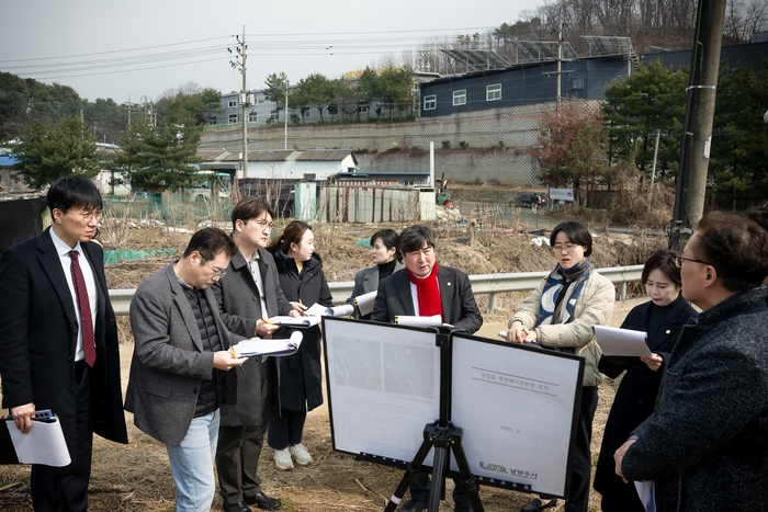
[[[645,331],[652,354],[635,361],[612,362],[600,357],[598,368],[611,378],[623,372],[602,434],[600,457],[595,473],[595,490],[602,494],[603,512],[645,512],[634,485],[624,483],[615,474],[613,453],[632,431],[653,413],[656,395],[669,354],[680,335],[680,328],[698,314],[680,295],[680,269],[673,252],[656,251],[643,268],[645,292],[651,300],[635,306],[621,325],[622,329]]]

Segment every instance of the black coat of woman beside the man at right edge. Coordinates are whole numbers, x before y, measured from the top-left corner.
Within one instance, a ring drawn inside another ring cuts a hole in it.
[[[626,315],[621,328],[645,331],[653,307],[653,301],[635,306]],[[640,357],[634,364],[613,363],[605,356],[600,357],[598,367],[609,377],[617,378],[626,372],[613,398],[613,406],[606,422],[600,456],[595,471],[594,487],[602,494],[601,508],[603,512],[645,512],[634,485],[624,483],[615,475],[613,453],[624,444],[632,431],[653,413],[662,376],[669,361],[669,354],[680,337],[680,329],[691,318],[697,317],[698,314],[690,303],[680,297],[677,303],[669,307],[667,316],[656,326],[656,329],[648,332],[648,349],[651,352],[659,354],[664,360],[657,372],[651,371],[645,363],[640,361]]]

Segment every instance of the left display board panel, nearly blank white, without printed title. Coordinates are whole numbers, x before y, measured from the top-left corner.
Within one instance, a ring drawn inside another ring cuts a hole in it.
[[[440,413],[434,332],[326,317],[323,334],[334,450],[410,462]]]

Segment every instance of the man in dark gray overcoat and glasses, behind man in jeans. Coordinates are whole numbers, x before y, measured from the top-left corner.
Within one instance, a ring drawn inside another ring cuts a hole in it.
[[[264,250],[272,232],[274,213],[256,197],[240,201],[231,213],[231,238],[238,252],[227,274],[212,286],[222,321],[231,332],[269,338],[280,326],[263,319],[275,315],[300,316],[280,288],[272,254]],[[251,357],[236,373],[237,405],[222,407],[216,469],[226,512],[248,512],[249,504],[279,510],[280,500],[261,490],[257,475],[259,456],[269,424],[272,365]]]

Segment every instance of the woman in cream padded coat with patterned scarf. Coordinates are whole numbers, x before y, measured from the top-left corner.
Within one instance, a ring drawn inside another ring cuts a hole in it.
[[[594,340],[594,326],[607,326],[613,312],[613,284],[595,271],[589,261],[592,237],[583,225],[561,223],[550,237],[557,264],[509,320],[507,341],[535,341],[544,349],[580,355],[585,359],[581,402],[571,489],[566,512],[586,512],[589,502],[589,476],[592,419],[597,409],[597,386],[602,375],[597,369],[600,349]],[[556,504],[556,499],[533,499],[522,512],[538,512]]]

